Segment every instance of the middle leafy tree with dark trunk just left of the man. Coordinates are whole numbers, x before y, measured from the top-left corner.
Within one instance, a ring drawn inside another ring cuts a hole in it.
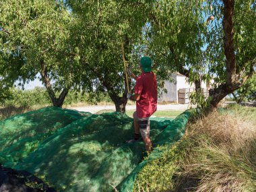
[[[132,50],[146,23],[150,3],[89,0],[67,4],[78,21],[75,35],[79,62],[85,71],[80,73],[83,88],[88,89],[90,81],[92,92],[108,94],[116,110],[125,113],[129,85],[125,81],[123,51],[125,61],[132,63]]]

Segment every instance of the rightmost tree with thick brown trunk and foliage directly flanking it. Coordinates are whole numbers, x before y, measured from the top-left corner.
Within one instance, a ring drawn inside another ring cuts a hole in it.
[[[210,106],[215,108],[222,98],[241,88],[255,73],[256,3],[251,0],[208,3],[212,3],[216,15],[211,35],[207,36],[208,65],[210,73],[215,74]]]

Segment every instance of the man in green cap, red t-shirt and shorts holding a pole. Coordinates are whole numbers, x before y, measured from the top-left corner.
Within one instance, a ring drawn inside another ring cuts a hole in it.
[[[156,111],[157,85],[156,75],[151,70],[152,59],[142,57],[140,59],[141,75],[136,77],[128,70],[129,75],[136,80],[135,91],[132,95],[127,94],[127,98],[136,101],[136,111],[133,113],[134,139],[128,143],[139,140],[139,131],[148,152],[152,151],[152,141],[150,139],[150,116]]]

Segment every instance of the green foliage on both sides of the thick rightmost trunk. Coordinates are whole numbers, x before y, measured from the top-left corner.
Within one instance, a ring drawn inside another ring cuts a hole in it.
[[[205,63],[203,67],[207,73],[214,78],[214,88],[218,84],[226,82],[226,57],[224,55],[222,27],[223,2],[207,1],[208,7],[205,15],[214,15],[215,18],[206,26],[207,33],[204,36],[204,42],[207,44],[205,49]],[[236,74],[238,80],[243,79],[250,72],[250,65],[255,62],[255,41],[256,41],[256,5],[251,0],[234,1],[234,55],[236,63]],[[254,64],[255,66],[255,64]]]

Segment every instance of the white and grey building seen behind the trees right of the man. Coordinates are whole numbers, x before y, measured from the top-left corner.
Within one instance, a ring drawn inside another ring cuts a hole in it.
[[[166,81],[164,83],[164,89],[167,90],[167,93],[162,92],[162,96],[158,98],[158,102],[179,102],[179,90],[185,88],[195,89],[195,84],[189,84],[188,79],[185,75],[180,73],[172,74],[173,82]],[[201,88],[207,88],[205,82],[202,82]]]

